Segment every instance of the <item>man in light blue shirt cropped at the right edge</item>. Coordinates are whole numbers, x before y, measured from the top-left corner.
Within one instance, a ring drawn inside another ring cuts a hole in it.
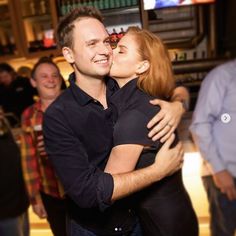
[[[203,157],[212,236],[236,232],[236,60],[204,79],[190,130]]]

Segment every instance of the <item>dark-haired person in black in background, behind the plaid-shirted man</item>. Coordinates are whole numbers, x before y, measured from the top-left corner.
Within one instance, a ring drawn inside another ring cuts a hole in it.
[[[0,63],[0,105],[6,113],[12,113],[19,121],[23,110],[34,103],[36,94],[29,78],[18,76],[9,64]],[[17,121],[11,118],[12,124],[16,125]]]

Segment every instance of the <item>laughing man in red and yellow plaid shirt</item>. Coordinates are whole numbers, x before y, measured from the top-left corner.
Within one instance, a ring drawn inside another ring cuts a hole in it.
[[[41,58],[33,67],[30,79],[39,100],[22,114],[22,167],[34,213],[47,218],[54,236],[66,236],[65,200],[60,184],[44,150],[43,114],[61,93],[62,76],[49,58]]]

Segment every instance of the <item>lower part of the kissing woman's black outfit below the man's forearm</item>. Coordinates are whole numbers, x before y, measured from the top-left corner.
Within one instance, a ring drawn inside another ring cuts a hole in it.
[[[139,194],[138,215],[144,236],[198,236],[198,221],[181,171]]]

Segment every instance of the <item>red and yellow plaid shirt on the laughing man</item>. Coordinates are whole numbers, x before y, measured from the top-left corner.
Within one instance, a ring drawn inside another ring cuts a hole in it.
[[[40,191],[61,198],[61,185],[53,171],[47,155],[40,155],[36,148],[36,127],[41,127],[43,111],[40,100],[22,114],[20,139],[22,168],[26,188],[32,204],[41,200]]]

